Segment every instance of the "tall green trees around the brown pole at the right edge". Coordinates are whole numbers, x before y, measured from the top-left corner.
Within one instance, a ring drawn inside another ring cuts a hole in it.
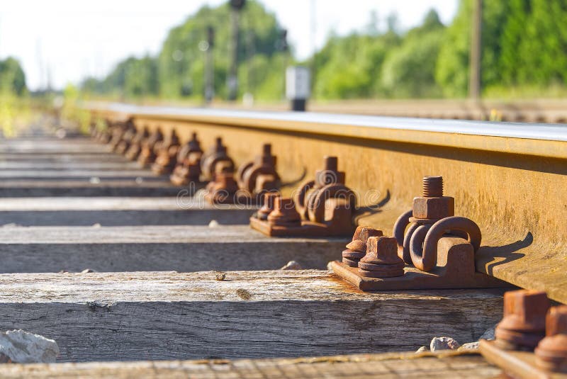
[[[466,95],[472,6],[472,0],[461,1],[439,52],[436,78],[445,96]],[[483,2],[481,77],[485,94],[506,96],[524,87],[520,93],[534,96],[549,87],[564,87],[566,51],[567,1]]]

